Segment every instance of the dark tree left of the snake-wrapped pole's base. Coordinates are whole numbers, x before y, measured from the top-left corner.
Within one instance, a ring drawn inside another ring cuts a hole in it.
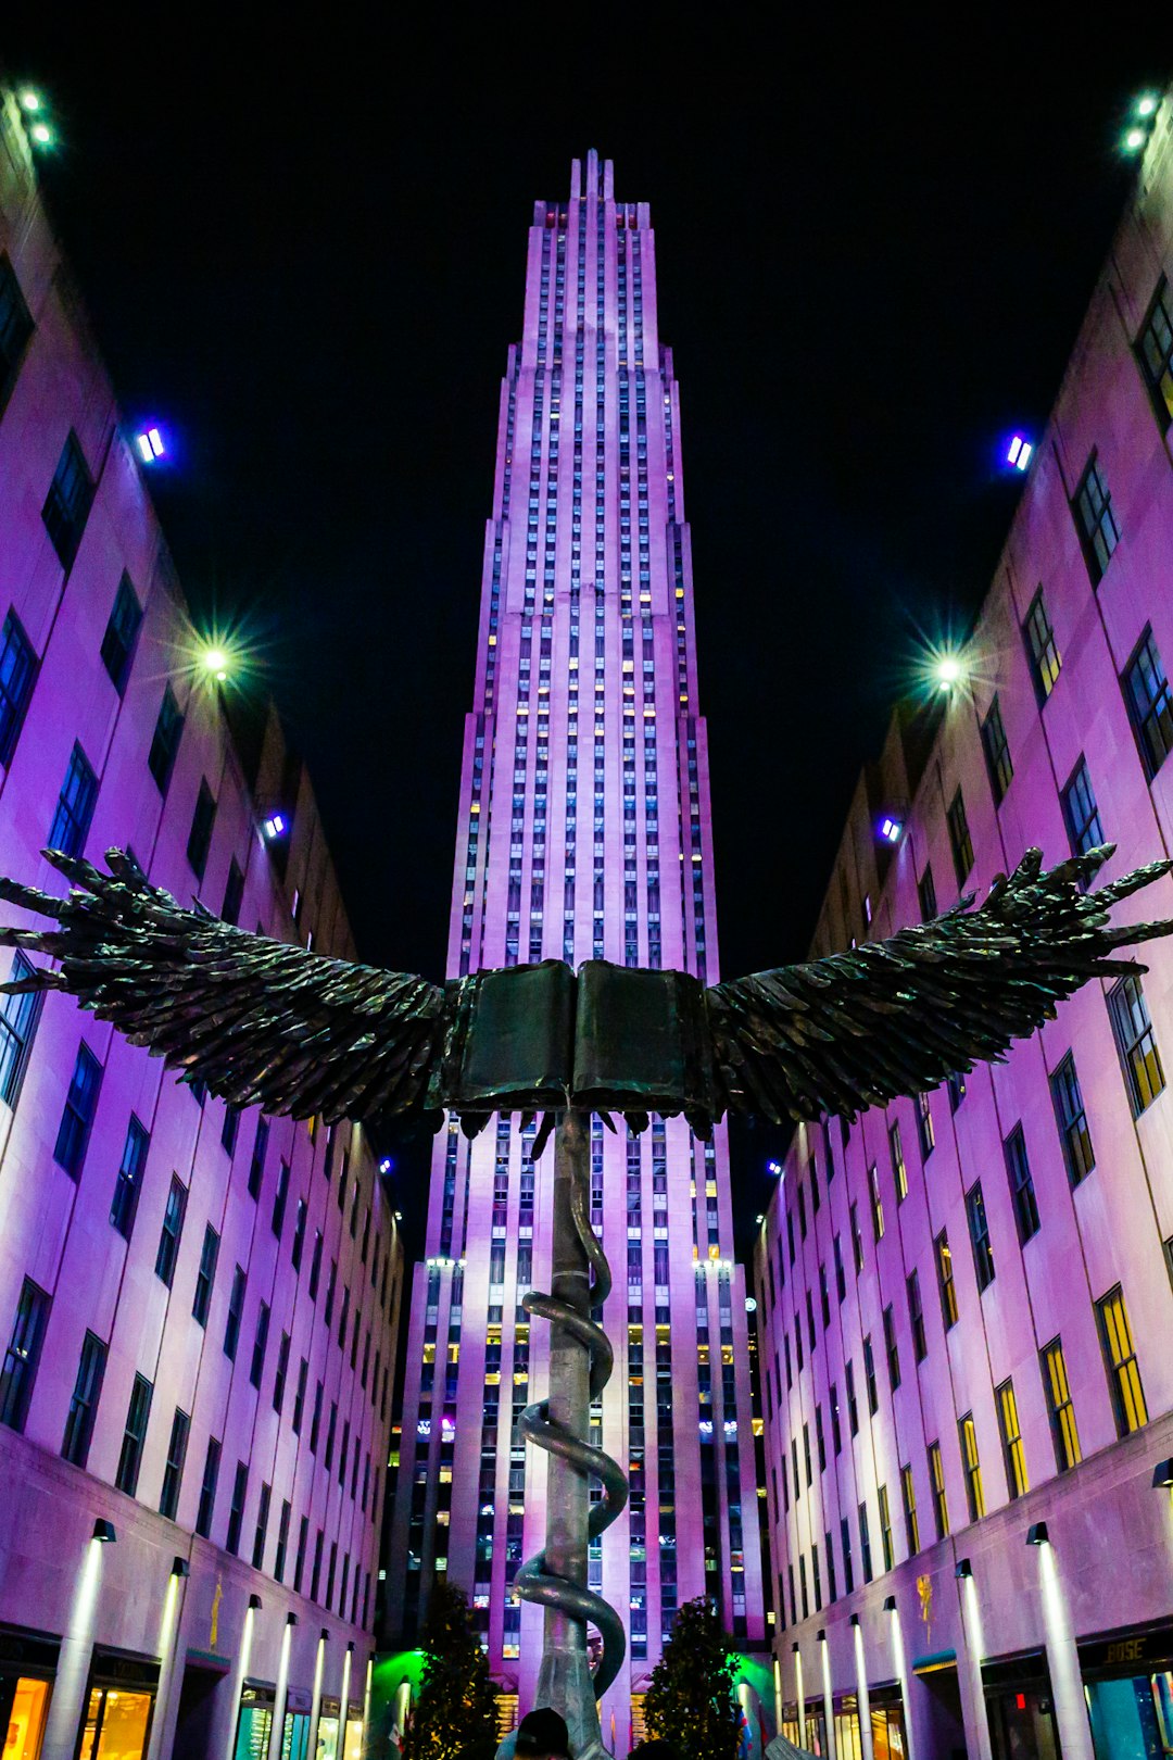
[[[496,1691],[468,1598],[436,1584],[424,1623],[424,1674],[403,1748],[406,1760],[457,1760],[466,1746],[492,1741]]]

